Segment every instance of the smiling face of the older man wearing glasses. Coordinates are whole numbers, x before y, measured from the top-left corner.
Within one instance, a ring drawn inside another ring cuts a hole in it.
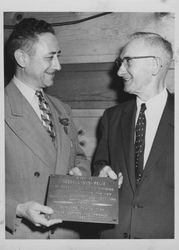
[[[133,40],[122,51],[121,59],[124,57],[155,56],[152,49],[147,48],[143,41]],[[150,88],[152,81],[152,64],[154,58],[131,59],[122,63],[118,70],[118,76],[124,79],[124,91],[139,95]]]

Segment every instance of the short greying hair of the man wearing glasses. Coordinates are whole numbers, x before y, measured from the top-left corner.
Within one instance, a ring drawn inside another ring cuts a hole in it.
[[[168,60],[173,58],[172,45],[165,38],[152,32],[135,32],[130,36],[131,39],[144,39],[144,41],[154,47],[160,48],[165,53]]]

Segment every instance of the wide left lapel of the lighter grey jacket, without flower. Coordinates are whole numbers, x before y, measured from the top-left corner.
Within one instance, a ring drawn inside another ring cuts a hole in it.
[[[6,112],[8,126],[45,165],[54,167],[56,150],[35,111],[13,83],[6,91],[10,104]]]

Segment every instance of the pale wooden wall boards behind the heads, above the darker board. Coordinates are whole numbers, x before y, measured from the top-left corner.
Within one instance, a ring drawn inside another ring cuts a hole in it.
[[[20,17],[35,17],[50,23],[76,21],[95,12],[6,12],[4,23],[14,25]],[[101,13],[98,13],[101,14]],[[161,34],[174,44],[174,14],[155,12],[113,12],[73,25],[54,26],[62,50],[61,62],[113,62],[128,36],[136,31]],[[11,30],[5,29],[5,40]]]

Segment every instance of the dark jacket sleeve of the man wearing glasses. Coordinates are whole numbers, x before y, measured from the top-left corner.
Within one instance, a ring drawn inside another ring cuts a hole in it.
[[[94,176],[98,176],[100,170],[105,165],[110,165],[109,151],[108,151],[109,150],[108,127],[109,126],[108,126],[107,111],[105,111],[99,124],[99,140],[92,164],[92,173]]]

